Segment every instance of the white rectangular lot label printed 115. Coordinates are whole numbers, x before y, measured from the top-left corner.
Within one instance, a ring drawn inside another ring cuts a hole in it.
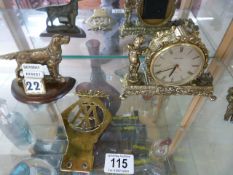
[[[134,174],[134,156],[130,154],[105,155],[104,172],[112,174]]]

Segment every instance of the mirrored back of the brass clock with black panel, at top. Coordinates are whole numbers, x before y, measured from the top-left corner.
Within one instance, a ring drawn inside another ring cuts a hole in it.
[[[124,11],[125,21],[120,29],[122,37],[154,34],[178,22],[171,21],[175,11],[175,0],[125,0]]]

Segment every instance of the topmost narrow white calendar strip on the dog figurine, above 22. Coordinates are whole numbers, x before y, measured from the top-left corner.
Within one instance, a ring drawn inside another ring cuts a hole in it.
[[[24,63],[22,64],[22,69],[23,72],[42,72],[44,75],[50,75],[47,65]]]

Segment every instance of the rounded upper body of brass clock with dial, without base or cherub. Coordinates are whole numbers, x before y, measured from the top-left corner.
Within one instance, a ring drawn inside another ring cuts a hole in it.
[[[156,33],[155,38],[149,44],[146,55],[147,77],[150,82],[154,81],[156,84],[164,86],[192,83],[204,73],[207,61],[208,50],[199,38],[198,27],[191,20],[185,20],[182,25],[172,26],[169,30]],[[173,79],[173,81],[167,82],[158,78],[155,70],[159,70],[163,64],[171,62],[174,65],[171,73],[175,73],[175,69],[180,68],[180,74],[183,74],[180,76],[183,76],[183,80]],[[182,72],[181,69],[185,70],[185,67],[189,69],[186,70],[187,72]],[[193,68],[194,70],[191,72],[190,70]],[[184,78],[185,73],[187,75]]]

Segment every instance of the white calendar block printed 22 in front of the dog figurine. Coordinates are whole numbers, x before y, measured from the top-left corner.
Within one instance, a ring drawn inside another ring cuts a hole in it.
[[[45,94],[44,82],[38,78],[25,78],[23,80],[25,93],[28,95]]]

